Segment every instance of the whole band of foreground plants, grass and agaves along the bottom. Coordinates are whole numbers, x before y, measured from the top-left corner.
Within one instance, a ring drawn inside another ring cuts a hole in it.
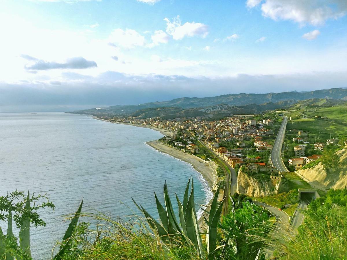
[[[288,179],[295,179],[288,175]],[[287,231],[275,232],[283,236],[273,237],[271,217],[262,207],[252,203],[245,195],[231,197],[231,212],[221,217],[223,201],[218,202],[219,192],[213,197],[211,208],[206,211],[204,220],[207,231],[201,232],[197,224],[194,203],[194,186],[189,179],[183,202],[176,196],[179,206],[179,222],[173,211],[168,188],[164,186],[164,205],[155,194],[160,222],[151,217],[141,205],[144,219],[133,216],[124,222],[120,218],[112,220],[105,215],[81,213],[82,203],[73,216],[59,253],[52,259],[75,260],[116,260],[116,259],[265,259],[271,251],[274,259],[346,259],[347,257],[347,190],[329,190],[326,196],[313,201],[305,221],[292,236]],[[189,191],[190,190],[190,191]],[[219,189],[218,189],[219,190]],[[269,197],[268,197],[269,198]],[[268,199],[266,198],[266,199]],[[295,202],[297,192],[277,194],[272,201],[280,203]],[[45,199],[41,204],[30,204]],[[269,201],[265,201],[269,203]],[[33,224],[45,225],[36,210],[54,205],[45,196],[25,196],[24,192],[13,192],[0,197],[1,219],[12,220],[17,226]],[[13,211],[12,211],[13,210]],[[79,222],[79,217],[91,218],[96,222],[96,230],[90,222]],[[11,227],[11,222],[9,227]],[[23,232],[23,230],[22,230]],[[18,246],[16,238],[8,229],[3,235],[0,229],[1,259],[29,260],[29,232],[20,235]],[[24,241],[23,241],[24,239]]]

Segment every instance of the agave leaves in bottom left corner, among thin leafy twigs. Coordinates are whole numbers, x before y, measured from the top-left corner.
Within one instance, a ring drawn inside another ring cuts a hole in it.
[[[22,216],[20,217],[21,220],[20,220],[20,231],[19,231],[19,245],[17,244],[17,241],[12,231],[12,210],[10,207],[8,208],[8,217],[7,217],[8,227],[7,227],[6,236],[3,234],[0,227],[0,259],[6,259],[6,260],[31,259],[31,248],[30,248],[30,220],[31,218],[30,216],[31,216],[32,207],[30,205],[30,201],[31,199],[30,199],[29,191],[28,191],[23,213],[22,213]],[[45,205],[47,205],[47,203]],[[64,255],[64,252],[68,249],[69,241],[71,237],[73,236],[75,227],[78,222],[79,214],[81,213],[81,210],[82,210],[82,205],[83,205],[83,199],[74,217],[71,219],[69,227],[66,230],[64,238],[61,242],[59,252],[53,258],[54,260],[60,260],[61,257]],[[12,249],[11,252],[8,252],[9,247]]]

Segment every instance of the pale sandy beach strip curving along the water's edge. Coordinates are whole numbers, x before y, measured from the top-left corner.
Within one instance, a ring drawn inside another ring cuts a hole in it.
[[[126,124],[126,125],[132,125],[135,127],[143,127],[143,128],[150,128],[155,131],[159,131],[162,135],[164,136],[173,136],[174,132],[169,130],[169,129],[163,129],[163,128],[158,128],[158,127],[153,127],[151,125],[137,125],[137,124],[130,124],[130,123],[121,123],[121,122],[115,122],[115,121],[110,121],[106,119],[100,119],[97,118],[96,116],[92,117],[93,119],[105,121],[105,122],[110,122],[110,123],[116,123],[116,124]],[[192,155],[185,153],[184,151],[181,151],[175,147],[171,147],[167,144],[163,144],[162,142],[155,140],[155,141],[148,141],[145,142],[146,145],[150,146],[151,148],[155,149],[159,153],[163,153],[167,156],[174,157],[175,159],[178,159],[180,161],[184,161],[188,164],[190,164],[195,171],[200,173],[201,178],[198,178],[203,186],[204,186],[204,192],[206,194],[206,199],[205,199],[205,206],[203,207],[204,209],[208,208],[211,203],[211,199],[213,197],[213,172],[209,166],[208,163],[206,163],[203,159]],[[206,186],[205,186],[206,185]],[[201,216],[203,214],[203,210],[200,209],[197,212],[197,217],[199,219],[199,222],[201,223]]]

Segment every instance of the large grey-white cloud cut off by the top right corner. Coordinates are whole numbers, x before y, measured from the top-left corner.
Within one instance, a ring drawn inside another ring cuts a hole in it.
[[[322,25],[328,19],[347,14],[346,0],[247,0],[254,8],[261,5],[262,15],[273,20],[292,20],[301,25]]]

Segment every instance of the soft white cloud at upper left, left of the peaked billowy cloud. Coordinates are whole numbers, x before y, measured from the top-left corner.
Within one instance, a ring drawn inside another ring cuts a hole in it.
[[[117,47],[132,49],[135,46],[144,46],[145,37],[132,29],[115,29],[110,37],[109,42]]]

